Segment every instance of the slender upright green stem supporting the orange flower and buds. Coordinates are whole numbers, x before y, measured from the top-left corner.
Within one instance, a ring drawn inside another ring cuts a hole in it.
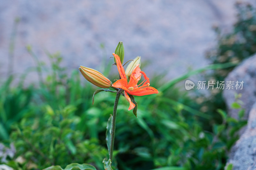
[[[121,93],[116,94],[116,100],[113,108],[111,143],[110,143],[110,153],[109,153],[109,159],[112,162],[113,162],[113,150],[114,150],[114,140],[115,140],[115,132],[116,132],[116,111],[117,111],[117,105],[118,105],[120,94]]]

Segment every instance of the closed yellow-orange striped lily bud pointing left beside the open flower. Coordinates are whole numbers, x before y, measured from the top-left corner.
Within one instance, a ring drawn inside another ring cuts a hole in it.
[[[111,81],[99,71],[84,66],[80,66],[79,70],[84,78],[92,84],[102,88],[108,88],[111,86]]]

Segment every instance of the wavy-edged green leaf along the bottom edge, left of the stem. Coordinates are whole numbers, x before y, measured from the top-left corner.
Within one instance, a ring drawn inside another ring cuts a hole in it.
[[[97,170],[97,169],[90,164],[72,163],[67,165],[65,169],[62,169],[59,165],[57,165],[57,166],[50,166],[43,170]]]

